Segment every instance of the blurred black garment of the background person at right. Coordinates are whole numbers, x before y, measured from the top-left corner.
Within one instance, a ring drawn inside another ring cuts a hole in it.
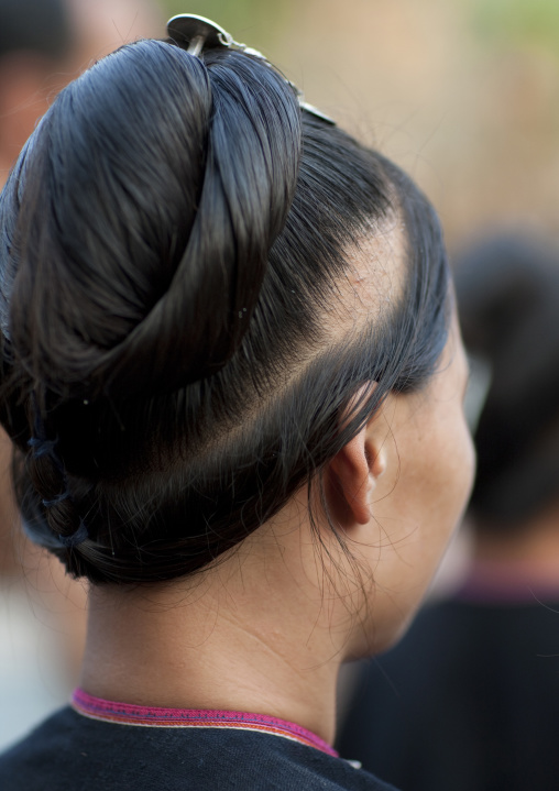
[[[426,607],[366,663],[337,748],[403,791],[557,791],[559,604]]]

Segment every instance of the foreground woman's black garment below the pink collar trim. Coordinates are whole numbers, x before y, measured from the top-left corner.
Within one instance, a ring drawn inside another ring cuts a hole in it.
[[[63,708],[0,757],[2,791],[394,791],[266,733],[142,727]]]

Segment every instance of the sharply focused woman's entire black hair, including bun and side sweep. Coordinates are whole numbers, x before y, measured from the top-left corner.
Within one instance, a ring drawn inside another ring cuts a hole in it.
[[[332,336],[348,251],[393,230],[397,298]],[[95,583],[194,573],[238,545],[387,393],[420,387],[447,337],[428,201],[234,51],[141,41],[96,64],[28,142],[0,232],[20,507]]]

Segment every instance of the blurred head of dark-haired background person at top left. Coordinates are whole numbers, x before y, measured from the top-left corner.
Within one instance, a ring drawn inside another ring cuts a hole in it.
[[[0,0],[0,187],[57,91],[161,23],[150,0]]]

